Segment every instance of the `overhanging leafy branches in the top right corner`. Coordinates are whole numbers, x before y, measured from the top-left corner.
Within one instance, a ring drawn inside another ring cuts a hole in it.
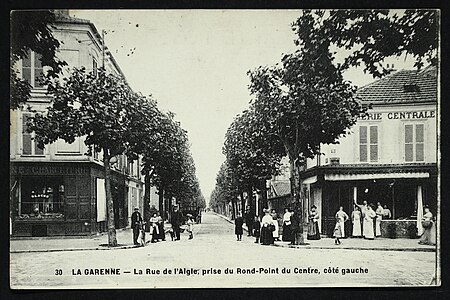
[[[327,40],[349,51],[341,70],[363,63],[374,77],[391,71],[384,64],[390,56],[411,55],[418,69],[425,62],[437,65],[438,28],[439,11],[427,9],[305,10],[293,24],[297,45],[311,38]]]

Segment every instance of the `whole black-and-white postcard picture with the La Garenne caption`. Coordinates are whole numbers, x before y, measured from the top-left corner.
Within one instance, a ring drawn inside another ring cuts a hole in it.
[[[439,9],[9,22],[12,290],[441,286]]]

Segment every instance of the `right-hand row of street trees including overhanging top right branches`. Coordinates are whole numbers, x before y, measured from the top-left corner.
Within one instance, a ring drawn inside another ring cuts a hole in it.
[[[436,10],[303,11],[292,24],[297,50],[275,66],[248,72],[252,99],[225,135],[226,161],[210,206],[220,210],[231,202],[234,217],[238,195],[243,199],[244,191],[252,195],[255,190],[267,207],[266,180],[279,172],[280,159],[287,155],[292,202],[302,216],[299,172],[306,159],[320,155],[321,144],[338,143],[368,109],[343,73],[362,65],[380,78],[390,72],[384,59],[401,55],[413,57],[418,69],[437,65],[438,23]],[[338,52],[345,53],[339,63]]]

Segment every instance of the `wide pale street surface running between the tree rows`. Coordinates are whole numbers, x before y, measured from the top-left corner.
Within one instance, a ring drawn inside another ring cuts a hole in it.
[[[11,253],[10,274],[12,288],[428,285],[435,257],[422,251],[271,247],[246,236],[238,242],[232,224],[206,213],[193,240],[184,233],[181,241],[142,248]],[[118,274],[101,275],[108,272]]]

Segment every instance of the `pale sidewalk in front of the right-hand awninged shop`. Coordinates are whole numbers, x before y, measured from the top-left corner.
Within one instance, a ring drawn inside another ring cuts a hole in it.
[[[228,217],[216,214],[224,220],[234,224]],[[243,226],[245,231],[247,226]],[[304,233],[305,245],[290,245],[289,242],[275,242],[275,247],[300,248],[300,249],[347,249],[347,250],[377,250],[377,251],[422,251],[435,252],[436,246],[419,245],[419,239],[388,239],[376,238],[374,240],[365,240],[358,238],[341,239],[340,245],[334,244],[333,238],[323,237],[318,241],[310,241],[306,239]]]

